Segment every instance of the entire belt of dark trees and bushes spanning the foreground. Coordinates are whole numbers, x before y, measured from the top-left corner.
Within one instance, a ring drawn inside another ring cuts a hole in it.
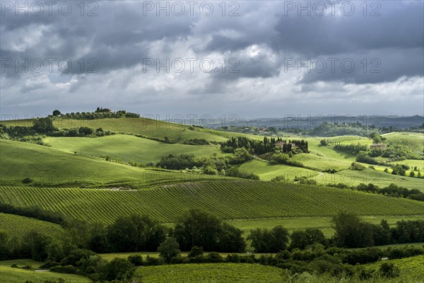
[[[28,214],[30,216],[30,214]],[[65,221],[66,233],[52,238],[39,231],[28,231],[22,238],[8,237],[0,231],[0,260],[33,258],[44,261],[42,268],[54,272],[85,275],[93,281],[126,280],[134,274],[135,266],[198,262],[257,262],[275,265],[291,272],[341,272],[356,274],[353,265],[376,262],[383,256],[404,258],[424,254],[423,248],[360,248],[389,243],[424,241],[424,221],[399,221],[389,228],[387,221],[369,224],[355,214],[340,213],[332,219],[335,234],[327,239],[319,229],[298,229],[292,233],[283,226],[254,229],[247,240],[257,253],[276,255],[230,254],[244,253],[246,242],[240,229],[199,209],[190,209],[177,220],[175,228],[159,224],[148,216],[130,215],[116,219],[113,224],[86,224]],[[326,249],[325,249],[326,248]],[[143,260],[139,255],[128,259],[103,260],[98,253],[158,251],[160,259]],[[187,257],[181,250],[190,250]],[[210,252],[204,255],[204,251]],[[360,270],[363,272],[363,270]]]

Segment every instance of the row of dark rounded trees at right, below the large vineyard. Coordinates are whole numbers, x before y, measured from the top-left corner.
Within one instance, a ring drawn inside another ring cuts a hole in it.
[[[281,250],[303,250],[314,244],[326,247],[364,248],[391,243],[424,241],[424,221],[398,221],[390,228],[386,220],[370,224],[355,214],[340,213],[332,218],[334,236],[325,238],[320,229],[295,230],[291,234],[283,226],[255,229],[247,237],[256,253],[278,253]],[[289,241],[290,239],[290,241]]]

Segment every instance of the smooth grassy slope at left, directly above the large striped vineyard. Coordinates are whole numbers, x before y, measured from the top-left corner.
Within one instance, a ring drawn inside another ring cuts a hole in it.
[[[0,140],[0,166],[3,185],[23,185],[22,180],[29,177],[36,185],[42,186],[135,183],[136,187],[149,187],[202,178],[201,175],[135,168],[48,146],[4,139]]]

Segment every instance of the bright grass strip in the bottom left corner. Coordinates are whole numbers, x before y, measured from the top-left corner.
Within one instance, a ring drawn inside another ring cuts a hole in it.
[[[12,260],[13,261],[13,260]],[[14,261],[16,262],[16,260]],[[46,280],[54,280],[57,282],[59,278],[65,280],[66,283],[89,283],[90,279],[79,275],[67,275],[54,272],[36,272],[32,270],[22,270],[20,268],[12,268],[0,265],[0,282],[7,283],[23,283],[27,280],[35,283],[43,283]]]

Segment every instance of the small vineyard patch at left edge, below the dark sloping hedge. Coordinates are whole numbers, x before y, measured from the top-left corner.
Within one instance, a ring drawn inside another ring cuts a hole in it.
[[[6,232],[9,236],[21,238],[33,229],[48,236],[54,236],[54,238],[60,238],[61,234],[64,233],[64,229],[58,224],[25,216],[0,213],[0,231]]]

